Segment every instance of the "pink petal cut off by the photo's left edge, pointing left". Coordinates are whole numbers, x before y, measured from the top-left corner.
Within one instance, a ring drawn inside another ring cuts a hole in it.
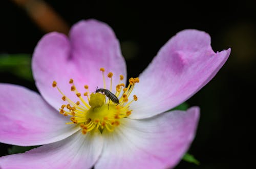
[[[80,127],[66,125],[37,93],[16,85],[0,84],[0,142],[34,146],[57,142]]]

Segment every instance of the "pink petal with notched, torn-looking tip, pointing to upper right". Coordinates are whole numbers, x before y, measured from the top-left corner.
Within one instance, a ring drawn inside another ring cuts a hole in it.
[[[152,117],[183,103],[216,75],[229,54],[230,48],[215,53],[205,32],[179,32],[140,75],[131,118]]]

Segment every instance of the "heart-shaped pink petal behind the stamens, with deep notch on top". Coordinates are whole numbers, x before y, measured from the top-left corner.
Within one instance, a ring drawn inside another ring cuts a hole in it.
[[[105,76],[113,72],[113,87],[122,74],[126,79],[126,65],[119,42],[111,27],[96,20],[80,21],[70,32],[70,40],[63,34],[50,33],[37,44],[33,53],[32,70],[36,86],[41,95],[56,109],[62,104],[61,95],[52,88],[53,80],[71,100],[78,98],[70,91],[70,78],[79,92],[90,92],[103,87],[100,68],[105,68]],[[110,79],[106,77],[110,87]]]

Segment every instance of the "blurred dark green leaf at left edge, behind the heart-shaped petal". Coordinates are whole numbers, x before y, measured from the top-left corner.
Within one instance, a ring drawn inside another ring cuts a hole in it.
[[[9,72],[18,77],[33,81],[30,54],[1,54],[0,72]]]

